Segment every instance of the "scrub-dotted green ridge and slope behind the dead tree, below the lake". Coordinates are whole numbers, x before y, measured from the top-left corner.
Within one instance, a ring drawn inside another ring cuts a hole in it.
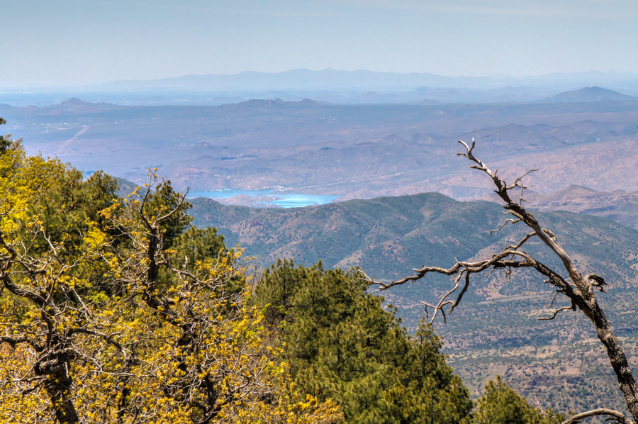
[[[322,259],[328,266],[360,266],[380,279],[400,277],[422,264],[451,265],[478,259],[516,240],[525,228],[506,227],[496,203],[458,202],[441,194],[347,201],[296,209],[251,209],[196,199],[196,225],[216,225],[230,244],[240,242],[262,264],[291,257],[298,264]],[[602,274],[609,294],[600,294],[629,357],[638,357],[638,232],[595,216],[538,213],[576,259],[583,272]],[[527,248],[557,266],[538,242]],[[452,366],[474,395],[496,374],[525,396],[561,411],[593,406],[622,407],[605,352],[591,324],[576,313],[554,321],[547,316],[552,289],[530,272],[475,277],[466,302],[437,324]],[[420,300],[449,286],[447,278],[384,292],[398,306],[404,324],[414,328],[423,316]],[[559,303],[563,304],[563,303]]]

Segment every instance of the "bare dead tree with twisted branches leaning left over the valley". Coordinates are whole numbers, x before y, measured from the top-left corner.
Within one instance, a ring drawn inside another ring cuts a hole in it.
[[[525,210],[522,207],[522,193],[526,188],[522,182],[522,178],[519,177],[513,182],[513,184],[507,184],[503,179],[500,179],[496,172],[493,172],[489,169],[481,160],[478,160],[473,155],[474,150],[474,139],[472,139],[472,145],[466,145],[466,143],[459,140],[459,143],[464,145],[466,152],[461,152],[458,155],[464,156],[468,158],[474,164],[471,165],[471,168],[478,169],[479,171],[485,172],[488,177],[490,177],[496,186],[496,194],[500,197],[500,199],[505,203],[503,208],[505,208],[505,214],[511,216],[508,218],[500,228],[503,228],[507,223],[519,223],[522,222],[527,227],[531,229],[531,232],[525,235],[519,242],[515,245],[509,245],[505,247],[500,253],[489,257],[486,260],[482,260],[479,262],[457,262],[454,266],[450,268],[442,268],[442,267],[423,267],[422,269],[415,269],[417,274],[409,277],[405,277],[400,280],[391,281],[387,284],[379,283],[373,281],[369,277],[365,277],[370,283],[379,285],[380,290],[389,289],[391,286],[396,286],[404,283],[413,283],[414,281],[425,277],[425,274],[430,272],[435,272],[439,274],[447,274],[454,275],[454,287],[449,290],[442,298],[438,301],[437,304],[425,303],[426,313],[427,308],[431,308],[433,311],[432,321],[437,318],[438,313],[440,312],[444,318],[446,319],[446,315],[449,315],[454,308],[456,308],[466,290],[469,287],[470,282],[470,274],[476,274],[478,272],[483,272],[485,270],[491,269],[505,269],[505,272],[509,272],[513,268],[534,268],[542,274],[544,277],[547,277],[547,282],[556,287],[556,292],[559,294],[563,294],[571,301],[571,306],[565,306],[563,308],[558,308],[554,311],[552,316],[549,318],[540,318],[540,319],[554,319],[556,315],[561,311],[566,310],[574,310],[576,308],[580,309],[593,323],[596,335],[598,335],[598,339],[600,342],[605,345],[607,349],[607,354],[616,374],[618,384],[620,386],[620,390],[625,396],[625,403],[627,403],[627,409],[632,413],[634,420],[638,420],[638,387],[636,386],[636,381],[634,379],[634,375],[632,374],[631,369],[629,368],[629,364],[627,363],[627,356],[625,352],[622,351],[622,347],[620,347],[620,342],[617,337],[611,330],[610,323],[608,319],[605,317],[605,313],[603,312],[603,308],[600,308],[598,302],[596,301],[596,296],[594,294],[594,289],[599,289],[600,291],[604,291],[603,286],[605,285],[605,280],[603,277],[600,277],[596,274],[588,274],[585,277],[578,271],[576,265],[574,264],[571,257],[563,250],[563,248],[556,241],[556,237],[551,230],[547,228],[542,228],[539,224],[535,216],[532,215],[529,211]],[[529,173],[529,172],[528,172]],[[513,201],[511,199],[509,191],[516,190],[520,191],[519,201]],[[498,228],[498,230],[500,230]],[[497,231],[498,231],[497,230]],[[559,257],[561,260],[564,271],[569,276],[569,278],[564,278],[561,276],[559,272],[554,271],[553,269],[547,267],[535,260],[531,255],[527,252],[521,250],[522,246],[530,240],[532,237],[538,237],[545,245],[547,245],[554,254]],[[571,281],[570,281],[571,280]],[[615,420],[617,423],[632,423],[627,417],[622,415],[617,411],[612,411],[609,409],[596,409],[594,411],[587,411],[585,413],[581,413],[578,415],[574,415],[572,418],[569,418],[564,422],[564,424],[568,423],[576,423],[580,418],[592,417],[596,415],[608,415],[612,418],[611,420]]]

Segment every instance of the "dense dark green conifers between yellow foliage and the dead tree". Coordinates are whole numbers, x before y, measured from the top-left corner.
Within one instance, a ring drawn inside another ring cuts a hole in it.
[[[408,337],[354,271],[279,261],[257,288],[283,358],[308,394],[332,398],[349,424],[453,424],[472,403],[429,325]]]

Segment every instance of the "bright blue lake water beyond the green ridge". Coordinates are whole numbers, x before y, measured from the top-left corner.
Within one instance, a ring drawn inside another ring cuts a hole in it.
[[[276,205],[281,206],[282,208],[301,208],[309,205],[323,205],[324,203],[330,203],[339,197],[318,194],[284,193],[280,191],[273,191],[272,189],[191,191],[189,192],[188,197],[190,199],[194,199],[196,197],[208,197],[208,199],[228,199],[229,197],[241,195],[250,197],[278,197],[279,199],[273,201],[258,201],[257,203]]]

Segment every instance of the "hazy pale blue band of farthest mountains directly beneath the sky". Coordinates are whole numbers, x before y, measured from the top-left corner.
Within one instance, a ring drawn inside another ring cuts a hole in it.
[[[0,91],[0,104],[47,106],[69,96],[130,106],[219,106],[250,99],[331,104],[437,104],[529,102],[582,87],[605,87],[638,95],[638,74],[573,72],[537,77],[446,77],[427,72],[291,69],[285,72],[186,75],[126,80],[83,87]]]

